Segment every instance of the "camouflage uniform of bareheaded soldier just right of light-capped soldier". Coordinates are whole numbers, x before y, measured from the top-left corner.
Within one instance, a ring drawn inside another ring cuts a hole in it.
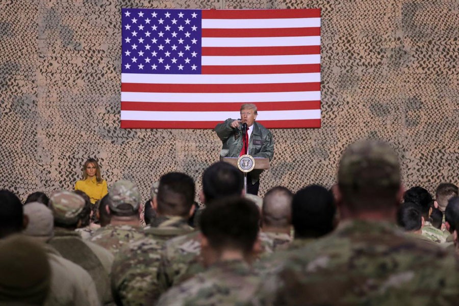
[[[190,233],[193,228],[181,217],[158,217],[144,228],[145,236],[122,247],[112,268],[112,292],[118,303],[154,304],[160,296],[157,271],[166,240]]]

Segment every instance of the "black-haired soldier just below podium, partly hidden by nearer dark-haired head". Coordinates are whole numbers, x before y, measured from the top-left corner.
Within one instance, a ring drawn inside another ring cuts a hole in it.
[[[201,203],[209,207],[212,201],[218,198],[241,196],[244,187],[243,180],[241,171],[235,166],[224,162],[212,164],[202,174]],[[162,292],[204,270],[200,250],[199,232],[176,237],[166,242],[161,254],[158,273]]]

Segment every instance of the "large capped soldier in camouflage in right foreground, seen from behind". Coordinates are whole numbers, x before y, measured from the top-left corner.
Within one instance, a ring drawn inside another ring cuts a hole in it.
[[[285,254],[254,305],[455,304],[458,267],[445,250],[406,237],[393,223],[400,169],[389,145],[356,142],[338,171],[343,221],[330,235]]]

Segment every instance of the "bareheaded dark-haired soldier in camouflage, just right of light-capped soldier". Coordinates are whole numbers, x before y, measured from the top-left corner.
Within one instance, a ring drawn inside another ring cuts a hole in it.
[[[112,292],[117,304],[151,305],[158,299],[157,270],[160,251],[166,240],[193,231],[187,222],[193,213],[193,179],[183,173],[163,175],[154,197],[158,213],[155,222],[144,228],[144,238],[135,240],[117,253],[112,269]]]

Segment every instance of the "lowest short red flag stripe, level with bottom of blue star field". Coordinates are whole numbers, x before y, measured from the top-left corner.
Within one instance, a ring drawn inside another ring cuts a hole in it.
[[[253,65],[253,66],[202,66],[202,74],[269,74],[320,72],[320,64]]]

